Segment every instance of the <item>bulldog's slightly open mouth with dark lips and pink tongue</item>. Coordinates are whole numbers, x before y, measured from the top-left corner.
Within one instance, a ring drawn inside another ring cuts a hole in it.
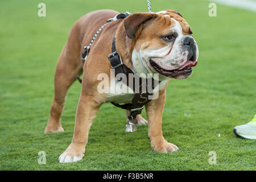
[[[156,64],[153,60],[150,59],[150,64],[155,69],[156,72],[167,76],[169,78],[175,78],[178,76],[186,76],[191,75],[192,73],[192,67],[195,67],[197,65],[197,61],[191,61],[188,60],[184,65],[182,65],[180,68],[174,69],[174,70],[167,70],[159,67],[158,64]]]

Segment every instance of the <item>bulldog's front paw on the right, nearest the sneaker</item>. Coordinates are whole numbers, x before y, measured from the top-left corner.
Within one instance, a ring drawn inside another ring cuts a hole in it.
[[[151,142],[151,148],[157,152],[177,152],[179,151],[179,148],[175,146],[175,144],[169,143],[166,140],[161,141],[161,142]]]

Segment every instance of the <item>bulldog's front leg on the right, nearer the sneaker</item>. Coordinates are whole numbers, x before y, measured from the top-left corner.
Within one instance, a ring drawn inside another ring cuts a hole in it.
[[[159,97],[146,105],[148,120],[148,137],[151,147],[158,152],[175,152],[179,148],[163,138],[162,114],[166,102],[166,89],[159,90]]]

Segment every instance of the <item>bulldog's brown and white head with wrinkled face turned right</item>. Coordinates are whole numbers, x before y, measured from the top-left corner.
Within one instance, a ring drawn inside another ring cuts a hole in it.
[[[124,19],[126,34],[134,40],[133,69],[160,73],[159,80],[188,78],[199,50],[192,29],[174,10],[135,13]]]

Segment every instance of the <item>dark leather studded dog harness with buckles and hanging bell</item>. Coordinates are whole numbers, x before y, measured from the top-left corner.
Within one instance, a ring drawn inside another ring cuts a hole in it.
[[[114,20],[120,19],[120,18],[126,18],[127,16],[129,16],[129,13],[122,13],[122,14],[118,14],[117,16],[115,16],[112,19],[109,19],[97,32],[96,34],[94,34],[92,41],[90,42],[89,46],[85,46],[84,47],[84,51],[82,51],[82,61],[84,63],[84,61],[86,60],[88,53],[89,53],[89,49],[90,46],[92,46],[92,43],[95,39],[95,37],[97,36],[98,32],[100,32],[100,30],[109,22],[112,22]],[[127,104],[117,104],[114,102],[111,102],[114,106],[120,107],[122,109],[126,109],[129,110],[129,116],[127,117],[127,125],[126,125],[126,131],[127,132],[132,132],[132,131],[136,131],[135,128],[135,124],[138,123],[136,116],[138,114],[141,114],[142,109],[144,108],[144,105],[146,105],[148,102],[150,102],[150,98],[148,98],[149,96],[152,96],[152,91],[148,92],[148,88],[150,88],[151,90],[153,90],[155,88],[155,86],[159,83],[156,82],[152,77],[151,78],[142,78],[139,77],[136,73],[134,73],[130,68],[128,68],[125,64],[123,64],[122,62],[122,58],[121,56],[119,56],[116,48],[115,48],[115,36],[113,38],[112,41],[112,53],[110,53],[110,55],[108,56],[110,64],[111,64],[111,68],[114,69],[115,71],[115,80],[117,81],[122,81],[123,83],[125,83],[127,86],[129,86],[129,78],[131,78],[129,75],[132,75],[133,77],[133,81],[130,80],[130,82],[133,82],[133,85],[130,85],[130,88],[133,89],[134,91],[134,97],[131,100],[131,103],[127,103]],[[122,78],[117,78],[117,75],[119,73],[123,73],[124,75],[126,75],[127,80],[122,79]],[[81,78],[79,76],[77,76],[78,80],[80,82],[82,82]],[[135,88],[135,80],[139,80],[139,88]],[[146,86],[147,89],[143,90],[142,88],[145,88],[143,86]]]

